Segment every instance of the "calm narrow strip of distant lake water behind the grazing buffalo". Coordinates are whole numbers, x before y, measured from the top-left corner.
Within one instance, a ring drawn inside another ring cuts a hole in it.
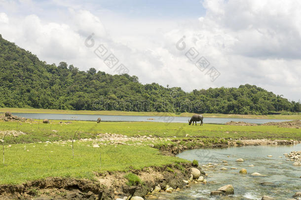
[[[169,117],[169,116],[114,116],[114,115],[73,115],[73,114],[36,114],[36,113],[13,113],[19,117],[30,119],[49,119],[49,120],[85,120],[96,121],[101,118],[102,121],[156,121],[156,122],[188,122],[188,117]],[[148,120],[153,119],[153,120]],[[204,118],[204,123],[226,123],[228,121],[245,121],[249,123],[281,122],[288,120],[270,120],[270,119],[237,119],[237,118]],[[198,122],[199,124],[199,122]]]

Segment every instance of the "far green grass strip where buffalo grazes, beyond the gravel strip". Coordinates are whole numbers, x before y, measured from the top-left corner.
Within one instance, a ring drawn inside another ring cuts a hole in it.
[[[78,129],[79,128],[79,129]],[[70,124],[51,120],[50,124],[0,121],[0,130],[20,130],[28,133],[18,137],[9,136],[8,143],[33,143],[45,141],[71,140],[78,129],[78,138],[95,138],[100,133],[117,133],[127,136],[153,135],[159,137],[198,136],[203,138],[244,138],[244,139],[300,139],[297,128],[278,128],[277,126],[234,126],[221,124],[188,125],[188,123],[162,122],[102,122],[72,121]],[[54,132],[55,130],[56,132]]]

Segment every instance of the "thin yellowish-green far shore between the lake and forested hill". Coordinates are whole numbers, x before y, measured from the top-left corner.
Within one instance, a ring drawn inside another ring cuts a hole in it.
[[[133,111],[73,111],[54,109],[30,109],[30,108],[0,108],[0,113],[10,111],[12,113],[46,113],[46,114],[74,114],[74,115],[122,115],[122,116],[173,116],[191,117],[193,113],[158,113],[158,112],[133,112]],[[279,119],[301,120],[301,115],[236,115],[236,114],[203,114],[205,118],[250,118],[250,119]]]

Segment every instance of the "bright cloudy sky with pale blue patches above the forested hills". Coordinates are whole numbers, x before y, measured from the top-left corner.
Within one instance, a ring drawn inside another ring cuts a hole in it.
[[[298,101],[300,10],[300,0],[0,0],[0,34],[49,64],[109,74],[123,64],[142,83],[249,83]]]

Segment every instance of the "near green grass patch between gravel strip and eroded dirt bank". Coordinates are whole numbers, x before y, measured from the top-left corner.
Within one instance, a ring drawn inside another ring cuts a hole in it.
[[[151,147],[119,145],[93,148],[76,142],[73,159],[70,145],[72,142],[65,145],[5,145],[6,164],[0,164],[0,184],[20,184],[46,177],[93,179],[93,171],[126,171],[130,166],[141,169],[146,166],[186,162],[177,157],[162,156],[157,149]]]

